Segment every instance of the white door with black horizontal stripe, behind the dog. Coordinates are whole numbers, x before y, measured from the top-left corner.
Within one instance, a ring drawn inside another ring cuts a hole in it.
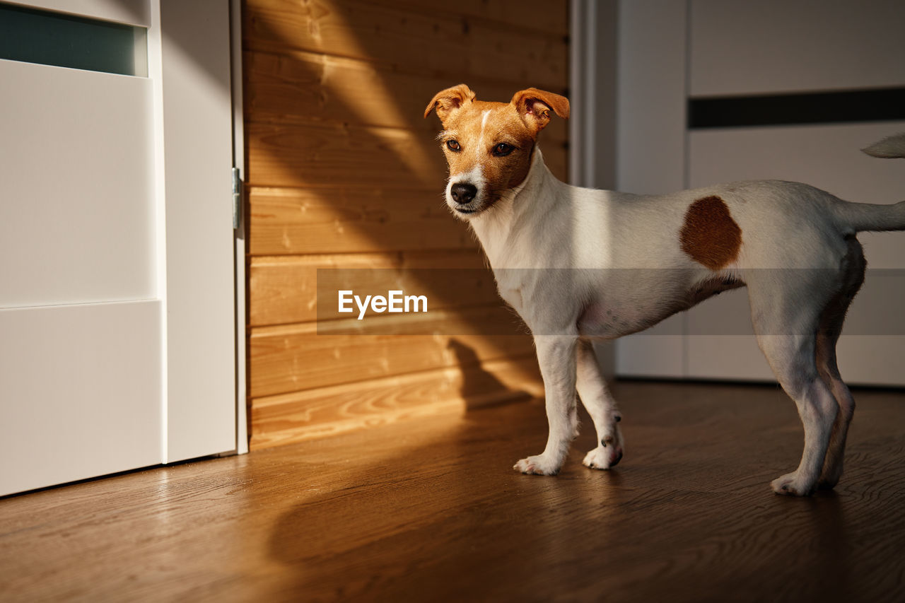
[[[853,201],[892,203],[905,196],[902,162],[868,158],[858,150],[905,129],[905,123],[689,130],[685,112],[678,110],[700,97],[905,86],[905,62],[898,60],[905,54],[905,5],[899,0],[819,6],[623,0],[620,15],[620,189],[668,192],[734,179],[786,178]],[[670,65],[669,72],[661,72],[662,64]],[[840,367],[853,383],[902,385],[905,330],[896,326],[890,300],[900,299],[903,287],[895,269],[905,268],[905,235],[859,238],[870,273],[843,331]],[[745,290],[723,293],[671,319],[670,336],[620,342],[617,374],[772,379],[748,312]],[[884,317],[892,319],[885,330]]]

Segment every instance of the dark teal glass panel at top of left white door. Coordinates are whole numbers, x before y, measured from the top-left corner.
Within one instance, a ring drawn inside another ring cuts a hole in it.
[[[147,77],[147,34],[144,27],[0,4],[0,59]]]

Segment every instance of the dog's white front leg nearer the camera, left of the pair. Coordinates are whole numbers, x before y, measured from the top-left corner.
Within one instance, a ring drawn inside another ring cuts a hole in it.
[[[536,335],[540,375],[544,379],[550,433],[540,455],[521,459],[513,467],[523,474],[556,475],[577,435],[576,345],[573,335]]]

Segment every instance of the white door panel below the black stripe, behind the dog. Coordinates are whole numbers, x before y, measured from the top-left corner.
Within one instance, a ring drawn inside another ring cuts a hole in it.
[[[691,133],[691,187],[775,177],[806,182],[845,200],[889,204],[905,197],[905,161],[868,157],[859,149],[905,121]],[[867,278],[840,340],[839,368],[853,384],[905,385],[905,233],[858,235]],[[772,379],[751,330],[747,290],[727,292],[688,312],[691,378]]]

